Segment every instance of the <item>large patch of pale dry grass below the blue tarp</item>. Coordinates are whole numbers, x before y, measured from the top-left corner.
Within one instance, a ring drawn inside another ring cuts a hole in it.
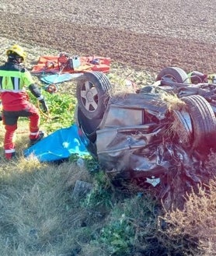
[[[0,181],[2,255],[58,255],[74,250],[78,228],[88,218],[72,198],[78,179],[90,181],[86,170],[73,163],[58,167],[24,159],[16,165],[8,163]]]

